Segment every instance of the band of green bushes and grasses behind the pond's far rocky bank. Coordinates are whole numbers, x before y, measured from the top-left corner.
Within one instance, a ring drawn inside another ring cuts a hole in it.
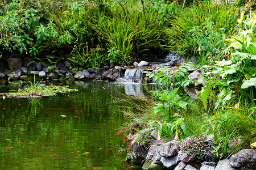
[[[221,40],[236,31],[241,2],[6,0],[0,3],[0,54],[3,60],[69,59],[88,69],[129,64],[166,48],[207,63],[222,56]]]

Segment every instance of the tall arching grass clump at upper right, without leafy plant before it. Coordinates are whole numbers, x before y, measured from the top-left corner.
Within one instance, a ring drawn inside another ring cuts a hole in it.
[[[233,10],[226,5],[216,5],[210,1],[185,8],[175,20],[172,20],[172,26],[167,31],[170,49],[181,54],[198,54],[199,40],[193,36],[192,30],[196,28],[197,31],[207,33],[207,23],[214,25],[214,32],[222,35],[232,33],[235,24]],[[208,35],[205,38],[207,37]],[[223,38],[219,36],[219,40],[212,43],[217,43]]]

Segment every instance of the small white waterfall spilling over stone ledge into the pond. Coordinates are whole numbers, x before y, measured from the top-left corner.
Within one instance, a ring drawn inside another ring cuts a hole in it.
[[[126,82],[141,83],[143,71],[144,70],[126,69],[123,78]]]

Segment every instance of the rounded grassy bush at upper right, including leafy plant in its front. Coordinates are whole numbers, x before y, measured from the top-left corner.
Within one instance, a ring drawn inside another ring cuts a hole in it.
[[[203,49],[202,57],[211,48],[210,54],[222,48],[225,33],[232,33],[234,28],[233,11],[226,5],[201,2],[186,8],[172,20],[172,27],[167,31],[170,49],[181,54],[198,53]],[[216,37],[217,36],[217,37]]]

